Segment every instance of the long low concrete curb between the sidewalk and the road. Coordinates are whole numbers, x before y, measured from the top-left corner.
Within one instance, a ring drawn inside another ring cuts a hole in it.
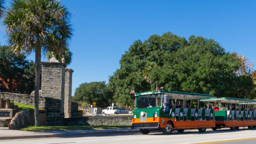
[[[13,139],[37,139],[37,138],[62,138],[62,137],[86,137],[91,135],[106,135],[106,134],[124,134],[124,133],[138,133],[139,130],[127,130],[127,131],[113,131],[113,132],[77,132],[77,133],[56,133],[56,134],[42,134],[42,135],[20,135],[11,137],[0,137],[1,140],[13,140]]]

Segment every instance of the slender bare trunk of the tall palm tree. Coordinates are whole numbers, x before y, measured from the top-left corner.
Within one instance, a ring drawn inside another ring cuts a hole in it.
[[[40,71],[41,71],[41,47],[36,47],[36,78],[35,78],[35,126],[39,126],[39,84],[40,84]]]

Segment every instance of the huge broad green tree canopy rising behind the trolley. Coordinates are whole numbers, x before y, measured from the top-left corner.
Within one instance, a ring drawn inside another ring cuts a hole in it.
[[[236,53],[201,36],[187,40],[172,33],[152,35],[145,42],[135,41],[120,63],[109,87],[122,105],[133,105],[132,87],[135,92],[153,91],[158,84],[170,91],[237,97],[236,86],[244,80],[235,74],[241,65]]]

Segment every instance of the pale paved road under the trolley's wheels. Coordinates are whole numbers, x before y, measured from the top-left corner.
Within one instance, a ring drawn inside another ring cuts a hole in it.
[[[241,127],[242,128],[242,127]],[[256,129],[239,131],[208,130],[206,133],[198,133],[196,130],[187,130],[183,133],[174,132],[171,135],[162,133],[150,133],[142,135],[134,134],[106,134],[106,135],[89,135],[88,137],[66,137],[66,138],[49,138],[49,139],[21,139],[21,140],[0,140],[0,143],[256,143]]]

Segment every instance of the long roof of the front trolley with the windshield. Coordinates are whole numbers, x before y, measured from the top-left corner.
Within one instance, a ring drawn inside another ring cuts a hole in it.
[[[164,94],[169,96],[171,99],[185,99],[185,100],[191,100],[191,99],[208,99],[213,98],[214,95],[209,94],[198,94],[198,93],[187,93],[187,92],[175,92],[175,91],[159,91],[159,92],[143,92],[143,93],[137,93],[135,97],[139,97],[141,95],[148,95],[148,94]]]

